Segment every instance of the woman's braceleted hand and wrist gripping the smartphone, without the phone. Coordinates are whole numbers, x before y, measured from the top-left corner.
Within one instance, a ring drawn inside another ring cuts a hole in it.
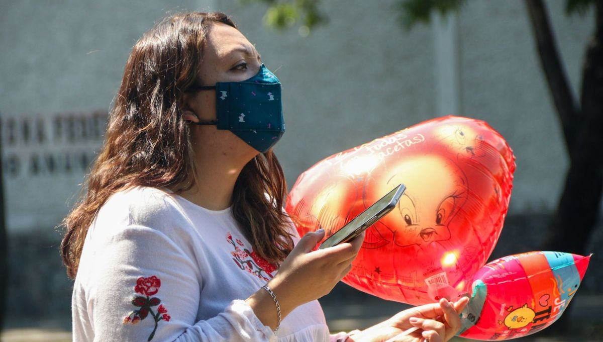
[[[362,233],[350,242],[313,251],[323,237],[322,229],[306,233],[280,265],[276,276],[268,282],[268,287],[279,300],[282,318],[297,306],[328,294],[350,271],[364,241]],[[262,323],[276,328],[276,306],[267,291],[258,290],[247,299],[247,303]]]

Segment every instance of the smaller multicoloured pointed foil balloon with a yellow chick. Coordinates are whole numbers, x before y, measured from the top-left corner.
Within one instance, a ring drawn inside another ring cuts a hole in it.
[[[488,263],[475,274],[459,335],[509,340],[545,329],[567,308],[589,259],[570,253],[529,252]]]

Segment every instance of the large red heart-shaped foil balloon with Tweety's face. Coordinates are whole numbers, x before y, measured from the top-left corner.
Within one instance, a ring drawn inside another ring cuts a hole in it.
[[[300,235],[326,237],[400,183],[396,208],[367,230],[343,281],[413,305],[471,291],[511,195],[513,153],[483,121],[446,116],[321,160],[287,200]]]

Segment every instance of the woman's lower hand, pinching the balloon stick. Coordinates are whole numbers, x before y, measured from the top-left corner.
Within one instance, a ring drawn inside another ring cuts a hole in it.
[[[347,341],[388,341],[410,328],[417,328],[408,335],[394,338],[397,342],[446,342],[461,329],[459,314],[469,303],[468,297],[450,303],[439,303],[406,309],[389,320],[353,334]]]

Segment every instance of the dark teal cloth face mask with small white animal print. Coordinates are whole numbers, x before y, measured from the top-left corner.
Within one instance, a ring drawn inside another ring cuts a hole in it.
[[[254,77],[241,82],[218,82],[193,90],[216,91],[216,121],[194,122],[229,130],[261,153],[285,133],[280,82],[263,64]]]

